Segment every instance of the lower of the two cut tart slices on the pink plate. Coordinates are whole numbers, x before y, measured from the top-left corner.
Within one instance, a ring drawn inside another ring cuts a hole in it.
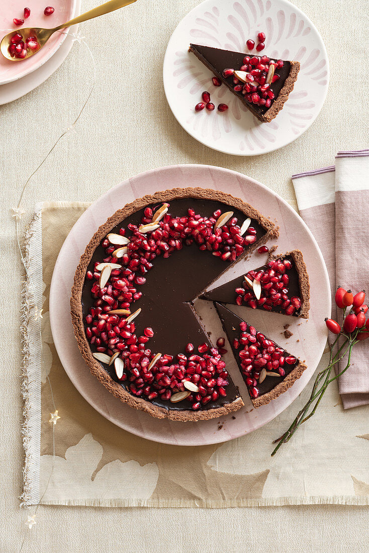
[[[305,363],[215,302],[254,407],[266,405],[300,378]]]

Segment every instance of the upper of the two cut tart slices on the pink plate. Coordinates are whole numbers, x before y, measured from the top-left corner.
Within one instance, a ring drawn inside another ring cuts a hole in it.
[[[310,285],[303,254],[294,249],[205,292],[202,298],[309,319]]]

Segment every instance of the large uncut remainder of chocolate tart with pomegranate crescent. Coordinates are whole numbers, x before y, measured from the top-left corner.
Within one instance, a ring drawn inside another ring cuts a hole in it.
[[[165,190],[116,211],[91,238],[72,288],[74,332],[91,373],[157,418],[205,420],[240,409],[194,300],[277,236],[252,206],[215,190]]]

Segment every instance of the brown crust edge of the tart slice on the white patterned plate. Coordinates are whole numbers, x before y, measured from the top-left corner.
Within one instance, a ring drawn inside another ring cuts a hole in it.
[[[196,51],[196,49],[193,49],[192,46],[193,45],[190,44],[188,51],[192,52],[196,56],[196,58],[198,58],[207,67],[207,69],[209,69],[215,75],[210,65],[206,63],[205,59],[200,58],[200,56],[198,55],[198,52]],[[293,91],[293,88],[295,86],[297,75],[298,75],[298,72],[300,71],[300,62],[290,61],[290,64],[291,64],[291,69],[289,71],[289,75],[287,79],[284,81],[284,85],[280,89],[279,94],[276,100],[274,100],[272,106],[263,115],[252,111],[250,107],[250,103],[247,102],[244,98],[241,98],[237,94],[237,92],[235,92],[233,88],[229,86],[227,80],[221,74],[216,76],[219,77],[222,83],[227,86],[228,90],[230,90],[243,103],[243,105],[247,107],[247,109],[253,114],[254,117],[256,117],[262,123],[270,123],[274,118],[277,117],[278,113],[283,109],[285,102],[287,102],[288,100],[288,96]]]

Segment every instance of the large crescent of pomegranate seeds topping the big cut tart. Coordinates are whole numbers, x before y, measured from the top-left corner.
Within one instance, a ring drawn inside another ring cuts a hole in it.
[[[168,208],[169,204],[162,207]],[[175,358],[160,354],[153,364],[156,356],[147,348],[147,342],[154,336],[153,329],[145,328],[141,335],[137,335],[135,323],[127,321],[127,315],[115,311],[131,310],[132,304],[142,297],[139,287],[145,284],[145,275],[153,268],[156,257],[168,258],[184,246],[197,244],[201,251],[211,251],[224,261],[233,261],[248,244],[256,241],[256,231],[248,227],[241,236],[237,218],[232,217],[231,212],[222,214],[221,210],[209,218],[201,217],[192,209],[183,217],[173,217],[168,212],[160,221],[155,218],[153,221],[153,217],[152,208],[146,207],[142,225],[154,222],[158,226],[148,232],[141,232],[144,229],[132,223],[127,226],[129,237],[126,237],[125,228],[119,229],[120,236],[127,238],[124,248],[110,242],[108,237],[102,241],[106,257],[101,262],[121,264],[121,267],[112,268],[103,288],[99,285],[101,271],[97,269],[100,262],[95,262],[94,270],[86,273],[87,280],[94,281],[91,288],[94,302],[85,317],[86,337],[97,352],[109,356],[119,354],[125,367],[120,380],[128,380],[127,387],[133,395],[143,396],[149,401],[155,398],[170,400],[172,394],[188,390],[188,397],[183,399],[190,402],[192,409],[198,410],[209,401],[226,396],[228,373],[225,362],[221,360],[221,354],[226,350],[210,348],[204,343],[198,347],[197,354],[189,343],[185,353],[179,353]],[[115,239],[108,236],[116,244],[119,242],[116,234]],[[122,249],[124,253],[119,252],[119,257],[118,251]],[[218,342],[224,345],[224,338]]]

